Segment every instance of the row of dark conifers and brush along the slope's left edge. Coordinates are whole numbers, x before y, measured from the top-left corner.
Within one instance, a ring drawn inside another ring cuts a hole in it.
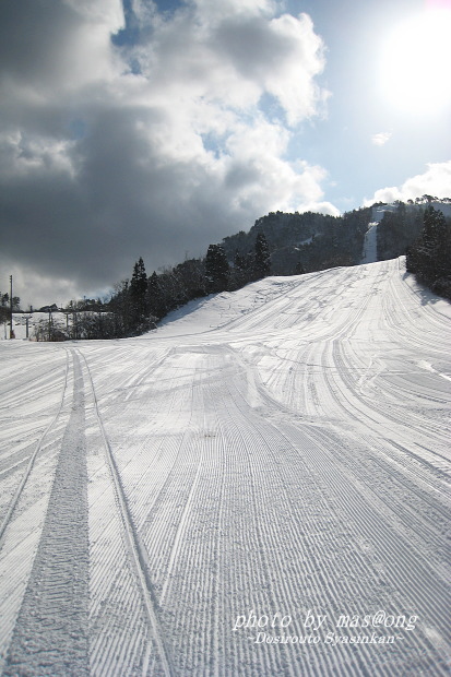
[[[36,341],[122,339],[155,329],[168,312],[190,300],[238,289],[271,273],[270,250],[263,233],[253,250],[230,263],[224,247],[210,245],[203,259],[188,259],[147,277],[140,258],[130,280],[116,285],[111,298],[70,301],[64,309],[41,308],[48,318],[34,329]],[[57,314],[58,311],[58,314]],[[61,314],[66,318],[61,320]]]

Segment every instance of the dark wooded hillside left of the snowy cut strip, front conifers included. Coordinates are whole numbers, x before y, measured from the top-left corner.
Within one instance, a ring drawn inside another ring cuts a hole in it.
[[[294,275],[359,262],[370,209],[340,217],[306,212],[271,213],[249,233],[240,231],[210,245],[204,258],[188,259],[161,273],[146,275],[140,258],[130,280],[116,286],[97,319],[86,318],[88,330],[80,337],[135,336],[151,329],[171,310],[190,300],[233,292],[268,275]],[[102,322],[102,328],[100,328]]]

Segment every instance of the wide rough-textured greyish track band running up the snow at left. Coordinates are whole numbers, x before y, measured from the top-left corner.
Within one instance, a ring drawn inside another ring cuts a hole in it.
[[[87,475],[83,382],[76,356],[73,371],[72,409],[4,675],[88,674]],[[40,446],[41,441],[37,451]],[[32,471],[33,465],[24,475],[25,484]]]

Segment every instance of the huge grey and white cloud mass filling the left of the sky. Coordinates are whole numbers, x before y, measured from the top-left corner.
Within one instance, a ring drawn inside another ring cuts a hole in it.
[[[5,3],[3,277],[14,266],[51,301],[111,285],[139,256],[152,272],[203,254],[269,211],[332,213],[325,171],[287,161],[328,97],[324,46],[309,16],[278,7],[190,0],[162,14],[135,0],[126,26],[119,0]]]

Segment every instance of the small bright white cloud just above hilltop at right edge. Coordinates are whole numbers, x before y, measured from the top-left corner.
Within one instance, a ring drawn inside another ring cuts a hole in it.
[[[401,187],[392,186],[377,190],[372,198],[365,200],[365,204],[415,200],[422,195],[432,195],[440,199],[451,197],[451,161],[428,163],[427,170],[424,174],[407,179]]]

